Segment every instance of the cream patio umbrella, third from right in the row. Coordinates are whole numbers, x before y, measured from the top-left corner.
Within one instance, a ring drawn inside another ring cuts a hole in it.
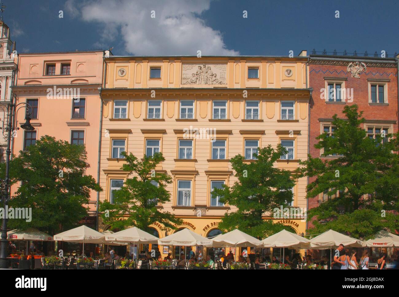
[[[309,248],[310,246],[310,240],[287,230],[281,230],[263,239],[262,243],[265,248],[282,248],[282,263],[284,263],[284,248]]]

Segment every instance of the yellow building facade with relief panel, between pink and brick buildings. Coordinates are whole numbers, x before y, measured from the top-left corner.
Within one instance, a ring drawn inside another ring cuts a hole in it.
[[[308,58],[298,57],[105,57],[100,201],[131,177],[120,169],[120,151],[139,159],[161,151],[157,171],[170,175],[170,203],[158,205],[205,237],[215,236],[225,212],[211,195],[236,181],[229,160],[248,162],[257,147],[281,143],[289,150],[275,166],[293,171],[308,153]],[[192,134],[194,136],[192,136]],[[306,177],[292,189],[293,207],[306,209]],[[265,214],[272,218],[272,214]],[[306,223],[274,219],[301,234]],[[109,226],[99,219],[99,231]],[[160,238],[162,226],[151,226]],[[163,249],[159,247],[162,254]],[[162,254],[166,256],[166,254]]]

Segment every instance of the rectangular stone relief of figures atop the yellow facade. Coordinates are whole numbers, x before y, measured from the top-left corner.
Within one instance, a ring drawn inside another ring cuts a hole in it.
[[[182,85],[226,85],[227,64],[183,64]]]

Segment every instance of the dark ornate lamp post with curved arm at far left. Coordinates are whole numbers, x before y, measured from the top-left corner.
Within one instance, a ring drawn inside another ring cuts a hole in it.
[[[2,189],[4,188],[4,191],[2,191],[2,199],[3,199],[3,205],[4,205],[4,211],[6,211],[7,205],[8,205],[8,200],[9,200],[9,190],[10,190],[10,156],[11,156],[11,137],[14,137],[14,133],[19,130],[19,127],[16,126],[16,120],[14,120],[14,117],[16,119],[16,115],[18,113],[18,110],[22,108],[17,109],[18,105],[24,104],[26,105],[30,110],[29,116],[32,114],[32,108],[28,103],[21,102],[18,104],[13,104],[13,103],[8,103],[7,104],[7,112],[8,112],[8,118],[7,118],[7,126],[6,127],[1,127],[0,129],[3,130],[3,132],[7,132],[7,135],[4,135],[4,137],[7,140],[7,149],[6,149],[6,175],[4,177],[4,180],[1,180],[2,183]],[[21,125],[21,128],[24,129],[25,131],[33,131],[35,130],[34,127],[30,124],[30,117],[26,116],[26,122]],[[2,222],[2,229],[1,229],[1,240],[0,240],[0,269],[7,269],[8,268],[8,262],[7,262],[7,219],[4,214],[3,216],[3,222]]]

